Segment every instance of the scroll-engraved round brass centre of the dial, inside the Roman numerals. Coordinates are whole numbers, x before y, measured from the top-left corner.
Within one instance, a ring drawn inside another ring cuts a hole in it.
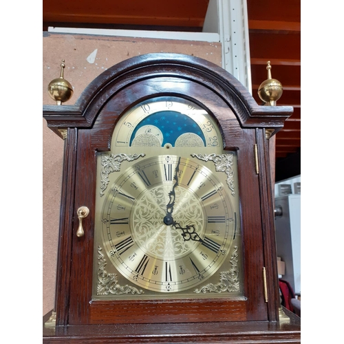
[[[204,236],[205,215],[202,202],[195,193],[183,186],[175,189],[173,217],[166,214],[171,183],[155,184],[142,193],[131,210],[130,223],[133,240],[143,252],[157,259],[178,259],[195,250],[197,241],[185,241],[182,232],[173,226],[193,224],[200,237]],[[175,215],[174,215],[175,214]]]

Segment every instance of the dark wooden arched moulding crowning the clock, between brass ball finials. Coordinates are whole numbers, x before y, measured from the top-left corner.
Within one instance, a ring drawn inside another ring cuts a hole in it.
[[[116,92],[142,80],[162,77],[203,85],[228,104],[243,128],[264,127],[276,133],[293,111],[292,107],[257,105],[244,85],[214,63],[185,54],[155,53],[135,56],[110,67],[89,83],[74,105],[45,105],[43,117],[59,136],[58,129],[91,128],[98,110]]]

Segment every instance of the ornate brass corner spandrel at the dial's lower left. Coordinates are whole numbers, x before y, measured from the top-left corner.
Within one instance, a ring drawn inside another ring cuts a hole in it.
[[[117,281],[116,274],[107,273],[105,266],[107,261],[103,253],[102,248],[98,246],[98,285],[97,285],[97,295],[109,295],[109,294],[143,294],[143,290],[138,288],[128,286],[120,286]]]

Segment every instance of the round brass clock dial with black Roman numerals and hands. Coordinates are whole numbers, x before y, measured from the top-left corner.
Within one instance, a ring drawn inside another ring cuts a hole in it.
[[[102,217],[111,263],[156,292],[186,290],[211,277],[234,235],[224,186],[206,166],[177,155],[127,169],[107,194]]]

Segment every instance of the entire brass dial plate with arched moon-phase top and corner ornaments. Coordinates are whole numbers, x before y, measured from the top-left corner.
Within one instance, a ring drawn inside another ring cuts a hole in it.
[[[222,147],[184,98],[120,118],[98,154],[93,299],[243,294],[237,154]]]

